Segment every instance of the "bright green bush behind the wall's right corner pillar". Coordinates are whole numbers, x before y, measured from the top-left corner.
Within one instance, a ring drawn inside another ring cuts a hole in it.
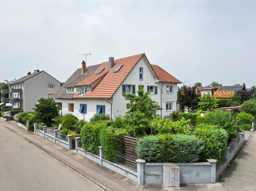
[[[201,124],[200,126],[203,126]],[[201,153],[200,160],[216,159],[217,162],[222,162],[228,145],[228,133],[223,129],[216,129],[206,125],[204,128],[197,127],[193,135],[200,138],[204,143],[204,151]]]

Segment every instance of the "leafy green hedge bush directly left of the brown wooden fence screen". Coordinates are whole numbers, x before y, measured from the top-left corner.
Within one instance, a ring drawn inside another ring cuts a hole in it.
[[[107,160],[115,161],[116,152],[123,153],[123,135],[125,130],[113,130],[112,128],[99,131],[99,143],[105,151],[104,156]]]

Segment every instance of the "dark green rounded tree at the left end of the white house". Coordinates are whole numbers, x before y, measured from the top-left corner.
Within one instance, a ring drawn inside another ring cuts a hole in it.
[[[52,98],[40,98],[38,104],[35,104],[35,114],[38,122],[45,123],[48,127],[51,125],[51,119],[57,117],[58,104]]]

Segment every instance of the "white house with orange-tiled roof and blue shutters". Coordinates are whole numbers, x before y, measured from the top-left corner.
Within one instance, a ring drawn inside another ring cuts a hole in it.
[[[106,113],[112,118],[125,115],[126,101],[122,92],[137,93],[139,85],[163,109],[162,117],[175,110],[178,79],[157,65],[149,63],[144,53],[77,69],[53,95],[61,105],[61,113],[73,113],[90,121],[95,113]]]

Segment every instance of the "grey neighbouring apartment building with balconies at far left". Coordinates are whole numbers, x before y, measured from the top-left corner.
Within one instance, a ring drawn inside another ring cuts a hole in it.
[[[26,112],[33,112],[33,108],[40,98],[51,98],[60,87],[60,82],[45,71],[35,70],[28,72],[27,76],[9,84],[8,100],[12,103],[12,109],[23,109]]]

